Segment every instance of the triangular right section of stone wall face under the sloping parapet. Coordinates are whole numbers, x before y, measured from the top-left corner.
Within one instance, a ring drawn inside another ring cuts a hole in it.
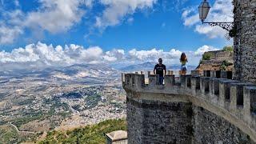
[[[222,117],[193,106],[193,143],[254,143],[250,137]]]

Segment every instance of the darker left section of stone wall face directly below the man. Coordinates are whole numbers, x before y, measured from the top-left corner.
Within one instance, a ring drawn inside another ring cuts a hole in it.
[[[127,98],[129,143],[191,143],[191,104]],[[142,122],[138,122],[142,118]]]

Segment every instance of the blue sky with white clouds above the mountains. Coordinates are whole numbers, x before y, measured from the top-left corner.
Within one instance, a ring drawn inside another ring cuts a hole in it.
[[[230,46],[226,31],[202,25],[202,0],[0,0],[0,70],[79,63],[197,65]],[[232,0],[210,0],[208,22],[232,22]]]

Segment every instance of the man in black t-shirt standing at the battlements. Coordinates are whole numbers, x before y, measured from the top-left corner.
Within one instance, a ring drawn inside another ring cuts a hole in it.
[[[166,66],[162,64],[162,58],[158,59],[158,64],[154,66],[154,74],[159,75],[159,85],[163,85],[163,78],[166,75]]]

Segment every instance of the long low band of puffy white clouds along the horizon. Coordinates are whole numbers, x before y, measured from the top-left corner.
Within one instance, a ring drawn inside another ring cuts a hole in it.
[[[202,54],[206,51],[218,50],[213,46],[202,46],[196,51],[185,51],[189,58],[190,65],[197,65]],[[84,48],[71,44],[70,46],[52,46],[38,42],[30,44],[25,48],[17,48],[11,52],[0,51],[0,70],[4,67],[17,66],[19,69],[26,67],[44,68],[48,66],[70,66],[74,64],[93,64],[93,63],[139,63],[139,62],[158,62],[162,58],[165,63],[179,64],[181,50],[162,49],[152,50],[129,50],[113,49],[104,52],[98,46]],[[21,67],[22,66],[22,67]]]

